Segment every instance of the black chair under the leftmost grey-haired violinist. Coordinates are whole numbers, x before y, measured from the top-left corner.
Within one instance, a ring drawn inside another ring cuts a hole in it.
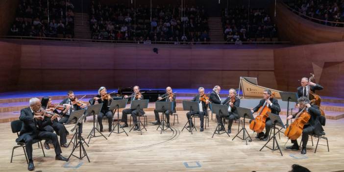
[[[11,129],[12,129],[12,132],[13,132],[13,133],[17,133],[17,136],[18,136],[18,137],[19,137],[19,132],[20,132],[20,130],[22,129],[22,124],[23,124],[23,122],[20,121],[20,120],[16,120],[16,121],[12,121],[12,122],[11,122]],[[38,148],[35,148],[35,149],[42,148],[43,155],[46,156],[46,154],[44,153],[44,149],[43,149],[43,146],[42,146],[42,142],[41,142],[41,141],[42,141],[42,140],[40,140],[40,139],[33,139],[32,144],[37,143],[37,144],[38,144]],[[41,144],[41,146],[39,146],[39,144]],[[17,145],[18,145],[18,146],[14,146],[13,149],[12,149],[11,163],[12,163],[12,160],[13,160],[13,157],[14,157],[14,156],[25,155],[25,160],[26,160],[26,163],[28,164],[27,155],[26,155],[26,151],[25,151],[25,143],[24,143],[24,142],[18,142]],[[14,149],[16,149],[16,148],[18,148],[18,147],[23,147],[24,154],[13,155]]]

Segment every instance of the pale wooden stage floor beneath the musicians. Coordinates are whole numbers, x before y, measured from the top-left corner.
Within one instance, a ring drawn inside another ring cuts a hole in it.
[[[266,142],[253,139],[252,142],[245,142],[232,138],[238,132],[238,123],[232,126],[230,137],[225,134],[215,135],[211,138],[216,127],[215,119],[210,121],[209,127],[203,132],[199,132],[199,119],[196,119],[197,131],[189,133],[182,127],[186,123],[186,111],[178,111],[179,123],[172,125],[172,131],[166,130],[160,134],[160,129],[156,130],[157,125],[150,122],[154,121],[153,112],[147,112],[148,125],[147,131],[140,135],[138,131],[131,131],[125,128],[129,136],[124,133],[103,132],[108,140],[103,137],[92,138],[90,147],[86,147],[91,163],[86,157],[78,160],[74,157],[69,162],[54,160],[52,148],[46,150],[46,156],[40,149],[33,151],[35,171],[40,172],[288,172],[292,164],[299,164],[307,167],[312,172],[334,172],[344,170],[344,138],[341,134],[344,119],[328,120],[324,127],[326,136],[329,140],[330,152],[327,147],[319,146],[317,153],[314,153],[315,146],[312,147],[311,141],[308,142],[306,155],[301,155],[300,150],[286,150],[285,143],[287,138],[281,133],[281,139],[277,141],[282,148],[283,156],[278,150],[271,151],[261,147]],[[121,114],[120,114],[121,116]],[[283,121],[286,116],[281,115]],[[173,122],[173,118],[170,120]],[[104,129],[107,130],[107,121],[103,121]],[[247,125],[247,124],[246,124]],[[72,125],[66,125],[71,129]],[[84,124],[83,136],[87,137],[93,123]],[[246,127],[250,136],[255,134]],[[10,163],[12,147],[16,145],[16,134],[11,132],[10,123],[0,123],[2,134],[0,135],[0,171],[3,172],[24,172],[27,171],[25,157],[14,157],[14,162]],[[195,130],[194,130],[195,131]],[[97,134],[99,135],[99,134]],[[72,134],[68,136],[68,141]],[[88,139],[87,139],[88,141]],[[271,142],[270,142],[271,143]],[[272,143],[269,146],[272,146]],[[315,142],[316,143],[316,142]],[[320,144],[325,144],[325,140],[320,140]],[[287,146],[291,145],[290,141]],[[34,145],[34,148],[37,144]],[[50,147],[53,147],[52,145]],[[71,153],[70,148],[62,148],[62,155],[68,157]],[[23,153],[23,149],[18,148],[15,154]]]

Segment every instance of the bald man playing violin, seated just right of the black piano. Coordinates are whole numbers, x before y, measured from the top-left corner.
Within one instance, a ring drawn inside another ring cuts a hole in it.
[[[172,88],[171,87],[167,87],[166,88],[166,94],[158,97],[158,100],[160,101],[173,101],[173,111],[171,111],[170,109],[165,110],[165,116],[167,119],[167,127],[170,127],[170,114],[175,113],[175,106],[176,106],[176,102],[175,102],[175,95],[172,95]],[[172,96],[171,96],[172,95]],[[154,122],[153,124],[155,125],[159,125],[160,124],[160,118],[159,118],[159,113],[154,109],[154,114],[155,114],[155,120],[156,122]]]

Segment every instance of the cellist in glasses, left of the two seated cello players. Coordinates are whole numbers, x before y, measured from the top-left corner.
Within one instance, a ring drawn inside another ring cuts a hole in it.
[[[262,107],[266,102],[267,107],[271,109],[271,113],[279,115],[279,112],[281,112],[281,108],[279,107],[278,100],[275,98],[270,98],[270,96],[271,96],[271,91],[269,89],[264,90],[263,99],[261,99],[259,104],[256,107],[254,107],[253,110],[251,110],[252,113],[257,112],[259,108]],[[251,122],[252,120],[249,121],[249,123]],[[265,121],[266,133],[265,134],[264,132],[258,133],[256,138],[261,139],[263,141],[267,141],[269,138],[271,126],[272,126],[272,122],[270,118],[267,118]]]

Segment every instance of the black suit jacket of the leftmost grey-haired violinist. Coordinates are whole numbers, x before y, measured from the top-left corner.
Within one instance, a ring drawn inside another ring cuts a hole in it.
[[[16,142],[22,142],[26,135],[35,136],[40,131],[45,131],[45,126],[52,124],[50,120],[35,120],[29,107],[25,107],[20,111],[19,120],[22,121],[23,124]]]

